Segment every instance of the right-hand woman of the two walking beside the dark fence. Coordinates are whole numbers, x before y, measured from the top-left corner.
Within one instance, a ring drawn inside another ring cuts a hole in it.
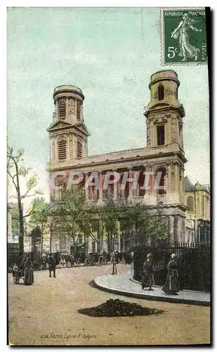
[[[179,291],[179,282],[178,282],[178,270],[176,263],[176,254],[171,255],[171,260],[168,266],[168,275],[166,277],[166,282],[162,290],[166,294],[177,294]]]

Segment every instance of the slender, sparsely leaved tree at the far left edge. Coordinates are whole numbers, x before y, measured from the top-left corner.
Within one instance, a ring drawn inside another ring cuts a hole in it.
[[[7,150],[7,173],[8,173],[8,182],[12,182],[15,187],[16,198],[18,199],[18,220],[20,224],[20,233],[19,233],[19,249],[20,255],[23,254],[23,239],[25,235],[25,224],[24,219],[34,213],[34,207],[24,215],[22,202],[29,197],[33,197],[41,194],[41,190],[37,189],[37,175],[30,175],[31,168],[25,168],[24,165],[24,149],[18,149],[14,151],[13,147],[8,146]],[[26,181],[26,189],[22,194],[20,189],[20,179]]]

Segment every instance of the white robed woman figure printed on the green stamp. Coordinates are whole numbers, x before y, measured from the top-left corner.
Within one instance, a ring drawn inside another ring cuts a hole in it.
[[[178,56],[183,56],[181,61],[187,61],[187,58],[195,58],[195,61],[197,61],[197,56],[200,50],[190,44],[189,32],[190,30],[194,30],[195,32],[202,32],[202,30],[198,30],[196,27],[193,27],[193,22],[196,21],[190,20],[188,13],[184,13],[183,20],[180,21],[176,30],[174,30],[171,34],[172,38],[178,39],[179,41]]]

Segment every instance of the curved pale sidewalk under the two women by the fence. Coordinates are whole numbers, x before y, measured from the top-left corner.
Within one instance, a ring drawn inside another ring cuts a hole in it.
[[[141,285],[131,279],[131,271],[121,272],[117,275],[103,275],[94,279],[96,287],[113,294],[149,299],[152,301],[165,301],[173,303],[195,304],[197,306],[210,306],[210,294],[206,292],[183,290],[177,296],[165,294],[161,287],[154,286],[154,291],[142,290]]]

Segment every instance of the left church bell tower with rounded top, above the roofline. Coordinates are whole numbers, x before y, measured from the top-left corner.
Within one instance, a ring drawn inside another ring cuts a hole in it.
[[[84,123],[84,94],[78,87],[62,85],[54,89],[53,100],[53,122],[47,130],[51,141],[51,163],[85,158],[90,133]]]

